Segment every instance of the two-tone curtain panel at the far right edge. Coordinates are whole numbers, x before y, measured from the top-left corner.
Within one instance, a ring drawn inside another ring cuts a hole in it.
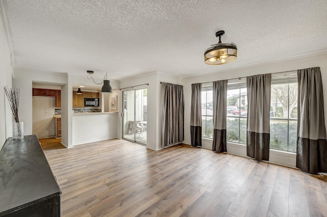
[[[296,167],[327,172],[327,142],[320,68],[297,70]]]

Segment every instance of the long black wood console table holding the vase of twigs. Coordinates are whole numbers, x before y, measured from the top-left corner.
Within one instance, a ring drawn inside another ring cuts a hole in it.
[[[60,188],[36,135],[0,152],[0,216],[60,216]]]

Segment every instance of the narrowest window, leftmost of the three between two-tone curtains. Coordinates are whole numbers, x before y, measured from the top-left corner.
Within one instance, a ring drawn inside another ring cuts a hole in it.
[[[213,83],[201,85],[202,137],[212,139],[213,125]]]

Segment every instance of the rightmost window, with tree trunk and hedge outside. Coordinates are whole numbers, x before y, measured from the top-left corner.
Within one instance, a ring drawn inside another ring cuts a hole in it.
[[[282,78],[282,76],[284,76]],[[296,152],[297,77],[276,75],[271,80],[270,148]]]

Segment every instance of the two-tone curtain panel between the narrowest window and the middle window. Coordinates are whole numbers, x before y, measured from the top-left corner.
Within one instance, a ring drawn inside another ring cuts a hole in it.
[[[227,83],[228,80],[213,82],[213,118],[214,140],[213,151],[227,152],[226,144],[226,113],[227,113]]]

